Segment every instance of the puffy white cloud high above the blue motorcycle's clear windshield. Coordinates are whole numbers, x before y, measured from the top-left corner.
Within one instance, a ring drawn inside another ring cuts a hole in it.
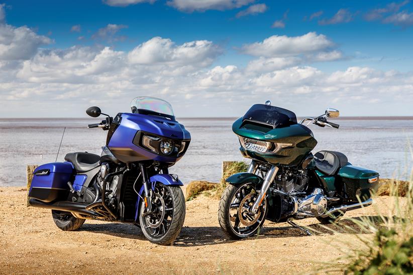
[[[154,37],[128,54],[131,64],[169,64],[205,67],[212,64],[222,50],[211,41],[198,40],[175,45],[170,39]]]

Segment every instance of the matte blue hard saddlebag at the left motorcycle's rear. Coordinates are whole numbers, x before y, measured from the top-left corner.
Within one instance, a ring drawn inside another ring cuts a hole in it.
[[[66,199],[69,191],[67,182],[73,174],[73,166],[69,162],[48,163],[39,166],[33,172],[29,197],[51,202]]]

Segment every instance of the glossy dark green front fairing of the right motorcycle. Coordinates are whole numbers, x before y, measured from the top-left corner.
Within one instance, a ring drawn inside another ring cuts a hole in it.
[[[276,152],[267,153],[246,150],[241,146],[240,151],[245,158],[268,162],[274,165],[298,165],[317,145],[313,132],[301,124],[273,128],[266,132],[245,128],[242,124],[243,118],[240,117],[232,125],[233,131],[239,136],[254,140],[292,145]]]

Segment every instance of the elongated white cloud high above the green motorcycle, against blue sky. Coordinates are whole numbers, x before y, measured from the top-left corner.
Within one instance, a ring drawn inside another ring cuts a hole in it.
[[[295,37],[274,35],[262,42],[244,45],[241,51],[252,56],[282,57],[320,52],[334,46],[325,35],[311,32]]]

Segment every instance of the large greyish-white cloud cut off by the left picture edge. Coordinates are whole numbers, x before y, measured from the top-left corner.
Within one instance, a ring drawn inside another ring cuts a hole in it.
[[[37,35],[26,26],[16,28],[0,24],[0,60],[29,59],[40,46],[52,42],[50,38]]]

